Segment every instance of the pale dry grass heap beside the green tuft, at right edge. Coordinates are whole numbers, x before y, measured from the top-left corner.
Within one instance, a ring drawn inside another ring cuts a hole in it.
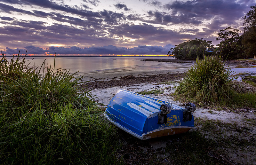
[[[229,86],[239,93],[256,93],[256,87],[248,83],[239,82],[237,80],[231,81]]]

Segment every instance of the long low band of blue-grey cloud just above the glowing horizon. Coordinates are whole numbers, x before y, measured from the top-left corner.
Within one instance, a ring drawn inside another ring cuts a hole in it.
[[[113,45],[108,46],[100,46],[100,47],[89,47],[89,48],[79,48],[76,46],[72,46],[69,48],[65,47],[50,47],[47,49],[42,49],[35,46],[26,46],[26,49],[10,49],[6,48],[6,54],[25,54],[26,50],[28,54],[80,54],[80,55],[89,55],[89,54],[125,54],[125,55],[138,55],[138,54],[149,54],[149,55],[166,55],[170,48],[174,47],[174,45],[168,44],[164,47],[162,46],[137,46],[133,48],[125,48],[125,47],[116,47]]]

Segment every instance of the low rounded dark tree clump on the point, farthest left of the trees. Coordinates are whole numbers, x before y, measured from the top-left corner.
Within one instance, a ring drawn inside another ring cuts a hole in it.
[[[176,59],[202,59],[204,54],[206,56],[212,54],[207,50],[212,50],[212,41],[206,41],[203,39],[194,39],[188,42],[180,43],[171,48],[167,55],[174,56]]]

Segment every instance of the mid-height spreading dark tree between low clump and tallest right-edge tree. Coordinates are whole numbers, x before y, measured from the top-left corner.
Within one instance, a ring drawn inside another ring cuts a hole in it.
[[[243,55],[243,45],[241,43],[241,31],[235,28],[228,27],[220,30],[216,40],[220,40],[217,51],[221,52],[221,56],[228,59],[241,58]]]

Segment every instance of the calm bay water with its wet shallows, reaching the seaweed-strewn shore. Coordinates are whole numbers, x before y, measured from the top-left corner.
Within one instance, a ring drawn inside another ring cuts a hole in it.
[[[11,58],[7,58],[11,59]],[[180,73],[191,64],[157,61],[140,61],[140,59],[168,59],[168,57],[57,57],[55,68],[70,69],[70,73],[79,71],[84,81],[100,81],[120,78],[124,75],[147,76],[152,74]],[[41,66],[45,60],[48,66],[54,65],[54,57],[26,57],[29,66]],[[32,61],[31,61],[32,60]]]

